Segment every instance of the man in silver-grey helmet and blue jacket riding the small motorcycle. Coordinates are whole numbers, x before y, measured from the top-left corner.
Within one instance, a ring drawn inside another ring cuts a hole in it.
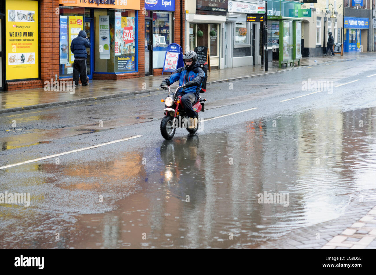
[[[205,77],[204,71],[197,62],[197,54],[194,51],[187,51],[183,55],[185,66],[177,69],[170,77],[162,81],[161,86],[170,86],[179,80],[179,86],[183,89],[177,92],[178,96],[182,96],[182,104],[191,120],[191,128],[197,126],[197,113],[193,110],[192,104],[199,100],[201,84]]]

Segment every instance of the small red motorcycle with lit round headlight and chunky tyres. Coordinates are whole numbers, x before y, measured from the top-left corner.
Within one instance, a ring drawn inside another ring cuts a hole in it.
[[[179,89],[182,89],[184,85],[177,87],[175,93],[173,94],[171,93],[169,86],[166,85],[161,87],[165,90],[168,90],[167,98],[161,100],[161,102],[164,102],[164,104],[166,105],[166,108],[163,109],[163,111],[165,111],[165,117],[161,121],[162,137],[164,137],[166,140],[170,140],[174,137],[176,128],[186,128],[189,133],[196,133],[200,128],[198,113],[200,111],[205,111],[205,104],[202,102],[206,101],[206,99],[201,99],[200,96],[199,100],[195,104],[193,104],[193,110],[197,113],[197,125],[195,128],[191,128],[190,119],[187,116],[183,105],[180,104],[182,96],[177,96],[177,91]]]

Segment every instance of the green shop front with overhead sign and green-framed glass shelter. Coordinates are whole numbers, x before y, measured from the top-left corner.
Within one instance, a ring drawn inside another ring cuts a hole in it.
[[[268,60],[278,60],[279,68],[302,58],[302,20],[311,10],[302,3],[268,0]]]

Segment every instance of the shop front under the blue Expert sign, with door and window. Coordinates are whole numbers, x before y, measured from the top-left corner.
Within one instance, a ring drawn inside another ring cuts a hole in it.
[[[159,75],[167,47],[174,43],[175,0],[145,0],[145,8],[145,75]]]

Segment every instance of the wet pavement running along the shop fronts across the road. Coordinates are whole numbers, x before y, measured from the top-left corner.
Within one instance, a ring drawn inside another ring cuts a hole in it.
[[[343,56],[335,55],[303,58],[300,66],[283,66],[278,68],[278,62],[269,62],[268,71],[264,71],[264,65],[243,66],[222,70],[208,71],[208,92],[210,84],[223,81],[237,80],[241,78],[257,77],[264,74],[274,74],[281,71],[299,69],[304,66],[314,66],[329,62],[340,62],[354,58],[370,57],[374,53],[345,53]],[[121,81],[90,80],[89,86],[78,86],[75,89],[65,91],[52,91],[45,88],[17,90],[0,93],[0,114],[23,110],[52,107],[58,105],[74,104],[79,102],[96,101],[102,99],[117,98],[121,96],[138,95],[162,90],[159,85],[169,74],[162,76],[147,76]],[[62,79],[64,80],[64,79]],[[47,86],[50,86],[49,84]],[[52,86],[50,86],[52,87]],[[72,87],[71,87],[72,88]]]

